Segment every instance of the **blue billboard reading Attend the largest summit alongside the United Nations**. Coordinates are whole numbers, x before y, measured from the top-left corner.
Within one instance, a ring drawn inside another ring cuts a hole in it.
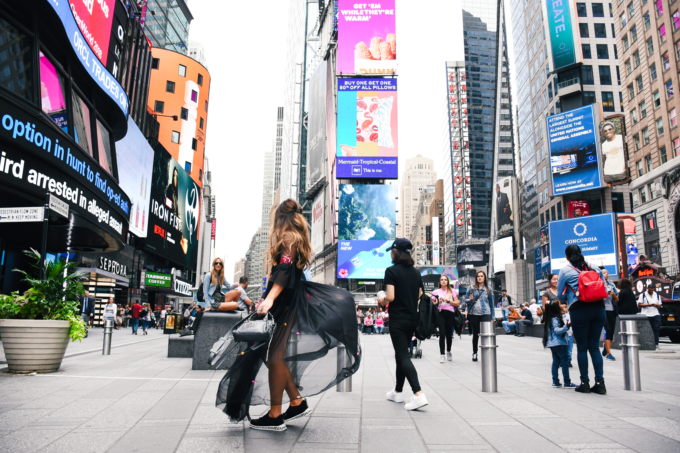
[[[602,187],[595,121],[592,104],[545,118],[553,195]]]

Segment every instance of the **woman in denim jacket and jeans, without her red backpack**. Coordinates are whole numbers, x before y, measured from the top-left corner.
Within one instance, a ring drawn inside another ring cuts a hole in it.
[[[605,326],[605,321],[607,320],[607,315],[605,314],[605,300],[583,302],[579,301],[579,298],[575,294],[579,289],[580,270],[596,271],[600,274],[600,279],[602,279],[603,283],[605,282],[605,275],[602,274],[602,271],[600,271],[597,266],[590,267],[588,263],[585,263],[581,248],[575,244],[571,244],[564,249],[564,256],[566,256],[566,259],[571,266],[566,265],[560,269],[560,277],[557,284],[557,297],[561,301],[566,300],[569,315],[571,316],[571,328],[577,348],[579,372],[581,373],[581,385],[575,390],[581,393],[595,392],[600,395],[605,395],[607,393],[607,388],[605,388],[602,355],[600,354],[600,335],[602,334],[602,328]],[[589,353],[595,371],[595,385],[592,387],[590,386],[590,380],[588,379]]]

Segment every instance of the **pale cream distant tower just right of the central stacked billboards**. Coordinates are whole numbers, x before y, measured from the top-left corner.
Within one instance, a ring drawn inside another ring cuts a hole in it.
[[[437,171],[435,161],[418,154],[406,159],[404,172],[401,175],[401,233],[404,237],[412,237],[415,218],[418,213],[420,194],[428,184],[435,184]]]

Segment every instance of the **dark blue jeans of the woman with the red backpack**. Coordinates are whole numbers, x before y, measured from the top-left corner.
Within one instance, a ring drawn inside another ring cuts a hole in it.
[[[604,307],[582,307],[569,312],[571,330],[576,342],[577,361],[582,382],[588,379],[588,353],[595,371],[595,382],[603,382],[602,354],[600,353],[600,335],[605,326],[607,315]]]

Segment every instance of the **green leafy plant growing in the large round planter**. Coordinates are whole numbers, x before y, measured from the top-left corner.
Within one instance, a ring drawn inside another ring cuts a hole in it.
[[[34,250],[24,250],[32,258],[31,272],[14,269],[24,275],[23,281],[31,288],[23,295],[12,292],[0,295],[0,318],[63,320],[71,322],[70,337],[81,340],[87,333],[87,325],[78,317],[78,297],[85,294],[83,282],[88,274],[75,271],[77,264],[67,263],[64,259],[45,261],[44,278],[36,278],[40,271],[40,254]]]

